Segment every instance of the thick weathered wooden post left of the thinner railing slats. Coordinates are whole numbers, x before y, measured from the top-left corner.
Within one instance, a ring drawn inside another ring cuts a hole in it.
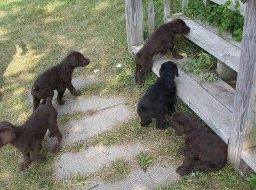
[[[142,0],[125,0],[125,18],[128,50],[143,41]]]

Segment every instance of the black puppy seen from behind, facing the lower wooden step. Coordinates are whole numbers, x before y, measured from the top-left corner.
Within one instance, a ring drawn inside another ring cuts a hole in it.
[[[173,111],[175,101],[176,85],[174,77],[179,77],[177,65],[167,61],[161,65],[159,70],[160,77],[150,86],[138,103],[137,112],[140,116],[140,125],[148,126],[152,118],[156,118],[156,128],[164,129],[169,126],[164,122],[164,115],[167,108],[168,113]]]

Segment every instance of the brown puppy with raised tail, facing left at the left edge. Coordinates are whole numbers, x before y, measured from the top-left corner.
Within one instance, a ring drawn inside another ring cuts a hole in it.
[[[3,145],[12,143],[23,154],[23,162],[20,169],[24,170],[29,167],[32,161],[42,161],[40,156],[42,149],[42,140],[44,139],[47,129],[49,136],[56,136],[56,142],[52,153],[56,154],[60,149],[62,135],[57,126],[58,112],[52,106],[51,98],[46,99],[45,105],[37,108],[24,124],[13,126],[8,121],[0,122],[0,148]]]

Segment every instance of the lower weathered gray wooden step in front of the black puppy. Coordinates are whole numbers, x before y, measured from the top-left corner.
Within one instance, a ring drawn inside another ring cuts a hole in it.
[[[135,47],[134,54],[140,50]],[[161,64],[169,59],[162,55],[155,55],[152,71],[159,76]],[[178,66],[186,64],[188,59],[172,59]],[[232,126],[232,105],[234,104],[234,89],[223,80],[212,83],[200,82],[193,74],[184,73],[179,69],[179,77],[175,78],[177,95],[188,105],[220,138],[228,143]],[[219,94],[221,92],[222,94]],[[180,110],[181,111],[181,110]]]

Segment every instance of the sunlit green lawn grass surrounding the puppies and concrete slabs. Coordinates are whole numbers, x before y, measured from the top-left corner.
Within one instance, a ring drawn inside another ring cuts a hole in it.
[[[156,27],[163,24],[163,1],[154,1]],[[180,10],[180,1],[172,1],[172,12]],[[143,17],[147,18],[147,1],[143,1]],[[144,33],[147,38],[147,22]],[[91,63],[86,68],[74,70],[74,77],[84,75],[97,78],[97,82],[81,89],[84,98],[90,96],[122,96],[133,110],[131,120],[116,124],[115,128],[79,141],[61,149],[78,152],[95,145],[121,145],[140,141],[150,145],[146,156],[131,161],[117,159],[106,168],[92,173],[60,180],[53,175],[54,157],[45,147],[45,161],[31,164],[20,171],[22,154],[12,145],[0,149],[0,189],[81,189],[97,180],[118,180],[129,174],[134,166],[147,165],[151,161],[169,161],[181,164],[183,157],[177,153],[184,146],[184,136],[176,136],[172,129],[157,130],[155,121],[147,128],[140,127],[135,105],[154,83],[156,75],[147,73],[141,88],[134,82],[134,57],[127,51],[124,1],[120,0],[1,0],[0,2],[0,121],[20,125],[32,113],[28,99],[31,85],[45,69],[58,64],[69,50],[79,50]],[[196,55],[198,48],[182,36],[177,38],[177,48],[187,55]],[[169,56],[169,55],[166,55]],[[116,68],[116,64],[122,64]],[[100,69],[95,74],[94,69]],[[65,99],[74,98],[65,94]],[[179,100],[179,99],[178,99]],[[54,100],[55,101],[55,100]],[[180,100],[176,110],[193,113]],[[93,115],[76,112],[58,116],[59,126],[72,120]],[[196,117],[195,113],[193,115]],[[198,119],[198,117],[196,117]],[[198,119],[200,121],[200,119]],[[202,122],[202,121],[200,121]],[[143,160],[145,159],[145,160]],[[235,184],[235,185],[234,185]],[[234,187],[236,186],[236,187]],[[248,189],[248,182],[227,166],[218,172],[195,173],[195,177],[182,177],[170,187],[160,189]],[[232,188],[234,187],[234,188]]]

